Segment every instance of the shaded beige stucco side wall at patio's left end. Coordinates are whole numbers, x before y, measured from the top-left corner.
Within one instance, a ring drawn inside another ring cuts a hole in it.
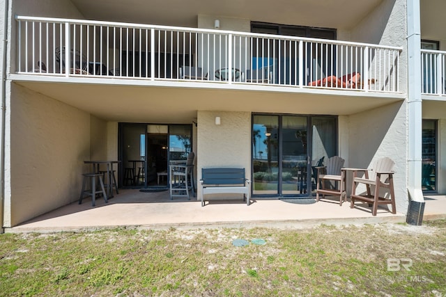
[[[16,84],[11,98],[5,227],[77,200],[91,148],[88,113]]]

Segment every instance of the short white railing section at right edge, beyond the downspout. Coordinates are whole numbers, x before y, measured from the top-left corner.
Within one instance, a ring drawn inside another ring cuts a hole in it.
[[[446,51],[422,49],[422,93],[446,95]]]

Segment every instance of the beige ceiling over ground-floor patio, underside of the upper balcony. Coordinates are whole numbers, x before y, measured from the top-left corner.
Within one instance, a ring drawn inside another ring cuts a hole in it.
[[[210,83],[130,86],[95,83],[16,81],[98,118],[118,122],[190,123],[198,110],[349,115],[402,100],[402,95],[276,87],[211,87]],[[187,84],[189,86],[187,86]],[[197,86],[196,85],[196,86]],[[270,90],[270,91],[268,91]],[[328,94],[332,95],[328,95]]]

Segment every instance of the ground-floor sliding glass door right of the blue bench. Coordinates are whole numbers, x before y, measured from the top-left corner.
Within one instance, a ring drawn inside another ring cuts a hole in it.
[[[337,154],[337,118],[309,115],[254,115],[253,194],[311,195],[316,166]]]

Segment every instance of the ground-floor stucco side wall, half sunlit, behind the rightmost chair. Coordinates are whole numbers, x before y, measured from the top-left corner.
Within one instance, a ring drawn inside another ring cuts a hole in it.
[[[406,110],[406,102],[400,102],[348,116],[348,166],[371,168],[377,159],[392,159],[395,200],[402,214],[408,207]]]

